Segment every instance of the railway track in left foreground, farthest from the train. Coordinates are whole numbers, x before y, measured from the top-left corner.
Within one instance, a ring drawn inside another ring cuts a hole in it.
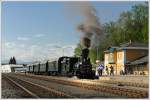
[[[74,96],[68,95],[60,91],[56,91],[52,88],[47,88],[45,86],[35,84],[30,81],[26,81],[8,75],[7,76],[4,75],[4,77],[7,78],[16,86],[18,86],[19,88],[21,88],[23,91],[25,91],[33,98],[75,98]]]

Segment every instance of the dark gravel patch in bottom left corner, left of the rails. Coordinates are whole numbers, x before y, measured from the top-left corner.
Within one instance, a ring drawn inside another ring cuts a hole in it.
[[[11,84],[8,80],[2,76],[2,98],[24,98],[25,93],[18,89],[14,84]]]

